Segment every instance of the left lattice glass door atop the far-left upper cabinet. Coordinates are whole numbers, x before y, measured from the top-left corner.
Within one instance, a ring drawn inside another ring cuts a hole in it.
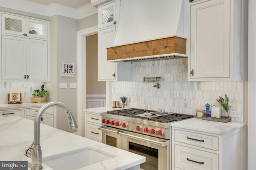
[[[26,33],[26,18],[2,14],[2,33],[24,35]]]

